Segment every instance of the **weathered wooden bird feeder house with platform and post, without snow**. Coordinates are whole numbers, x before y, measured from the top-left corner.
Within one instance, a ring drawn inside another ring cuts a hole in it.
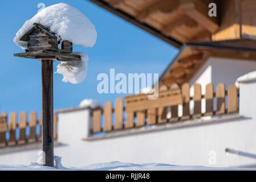
[[[78,61],[79,55],[72,54],[72,43],[60,41],[54,32],[34,23],[29,31],[20,39],[27,42],[26,52],[14,53],[14,56],[37,59],[42,64],[42,148],[45,155],[44,166],[54,166],[53,137],[53,61]],[[5,127],[2,126],[1,127]]]

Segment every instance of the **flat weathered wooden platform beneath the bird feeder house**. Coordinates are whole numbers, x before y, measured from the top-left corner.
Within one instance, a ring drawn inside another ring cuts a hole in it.
[[[53,61],[78,61],[81,56],[73,55],[71,53],[56,52],[49,50],[30,51],[22,53],[14,53],[14,56],[25,57],[30,59],[50,59]]]

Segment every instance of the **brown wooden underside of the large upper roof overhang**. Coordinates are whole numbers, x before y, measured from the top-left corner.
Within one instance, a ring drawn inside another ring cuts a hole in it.
[[[209,3],[218,0],[90,0],[174,47],[211,40],[218,18],[208,15]]]

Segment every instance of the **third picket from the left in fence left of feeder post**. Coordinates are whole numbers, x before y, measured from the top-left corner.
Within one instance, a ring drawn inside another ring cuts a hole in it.
[[[21,114],[19,114],[19,140],[18,140],[18,144],[27,143],[26,127],[27,127],[27,113],[25,111],[22,111]]]

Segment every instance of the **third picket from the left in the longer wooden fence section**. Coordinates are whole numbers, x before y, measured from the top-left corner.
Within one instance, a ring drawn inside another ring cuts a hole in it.
[[[115,108],[115,130],[123,129],[123,98],[116,99],[116,108]]]

